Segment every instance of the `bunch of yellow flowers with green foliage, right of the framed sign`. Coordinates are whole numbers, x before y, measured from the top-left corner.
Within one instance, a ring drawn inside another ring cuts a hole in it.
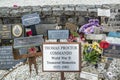
[[[83,49],[83,59],[88,63],[96,64],[100,60],[102,48],[99,43],[93,42],[92,44],[85,43]]]

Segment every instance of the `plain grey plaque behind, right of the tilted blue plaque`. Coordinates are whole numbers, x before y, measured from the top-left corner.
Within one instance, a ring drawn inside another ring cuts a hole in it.
[[[39,24],[35,25],[37,34],[43,34],[47,36],[47,30],[56,29],[57,24]]]

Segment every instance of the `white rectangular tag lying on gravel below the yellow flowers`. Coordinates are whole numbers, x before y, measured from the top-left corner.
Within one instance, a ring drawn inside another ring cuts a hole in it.
[[[88,80],[98,80],[98,75],[82,71],[80,74],[80,78],[85,78]]]

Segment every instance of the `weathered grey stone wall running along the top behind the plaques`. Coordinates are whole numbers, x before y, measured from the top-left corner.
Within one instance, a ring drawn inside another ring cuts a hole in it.
[[[52,6],[24,6],[24,7],[1,7],[0,24],[21,23],[24,14],[37,12],[41,23],[62,24],[73,22],[77,25],[85,24],[89,18],[97,17],[97,8],[118,8],[120,4],[104,5],[52,5]]]

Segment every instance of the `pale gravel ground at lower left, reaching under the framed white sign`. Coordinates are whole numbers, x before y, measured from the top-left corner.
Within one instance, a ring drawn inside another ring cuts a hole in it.
[[[9,71],[1,70],[1,80],[61,80],[59,72],[42,72],[42,58],[37,58],[38,75],[32,65],[32,72],[29,72],[29,65],[20,63]],[[6,75],[5,75],[6,74]],[[5,75],[5,76],[4,76]],[[4,78],[3,78],[4,76]],[[79,80],[79,73],[65,73],[66,80]]]

